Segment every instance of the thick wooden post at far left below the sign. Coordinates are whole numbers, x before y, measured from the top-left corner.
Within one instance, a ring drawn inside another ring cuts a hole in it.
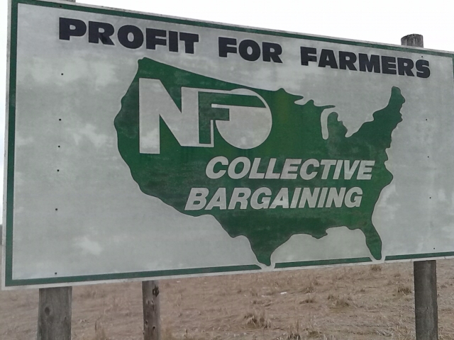
[[[71,340],[72,287],[42,288],[38,340]]]

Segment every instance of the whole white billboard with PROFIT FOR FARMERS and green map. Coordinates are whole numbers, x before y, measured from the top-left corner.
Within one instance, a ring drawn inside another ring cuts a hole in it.
[[[454,256],[453,54],[10,11],[4,288]]]

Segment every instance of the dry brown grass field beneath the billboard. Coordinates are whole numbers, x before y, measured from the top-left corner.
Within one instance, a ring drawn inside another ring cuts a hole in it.
[[[452,264],[438,261],[440,339],[454,339]],[[72,339],[143,339],[140,283],[72,297]],[[160,297],[163,340],[414,339],[412,263],[162,280]],[[37,306],[38,290],[1,291],[0,339],[36,339]]]

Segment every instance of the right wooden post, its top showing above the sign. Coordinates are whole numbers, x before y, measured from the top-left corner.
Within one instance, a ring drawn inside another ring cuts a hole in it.
[[[423,36],[406,35],[401,39],[401,44],[424,47]],[[437,263],[434,260],[415,261],[413,271],[416,340],[436,340],[438,339]]]

